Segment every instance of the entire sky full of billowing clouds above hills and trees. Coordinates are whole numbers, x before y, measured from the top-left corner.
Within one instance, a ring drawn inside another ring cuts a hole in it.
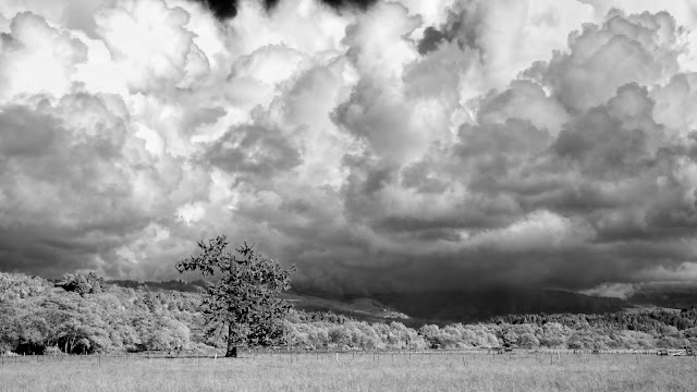
[[[5,0],[0,270],[697,285],[689,0]]]

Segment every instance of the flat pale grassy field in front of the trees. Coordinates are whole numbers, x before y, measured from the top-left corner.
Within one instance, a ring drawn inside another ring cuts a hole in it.
[[[4,358],[0,391],[697,391],[697,357],[245,354]]]

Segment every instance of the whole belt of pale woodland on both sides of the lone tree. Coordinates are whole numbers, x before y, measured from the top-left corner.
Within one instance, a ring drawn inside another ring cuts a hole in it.
[[[191,287],[182,281],[105,282],[95,274],[66,274],[51,282],[0,273],[0,352],[220,350],[221,339],[203,333],[201,296]],[[683,347],[697,346],[697,309],[510,315],[475,324],[418,329],[293,309],[284,330],[281,346],[295,350]]]

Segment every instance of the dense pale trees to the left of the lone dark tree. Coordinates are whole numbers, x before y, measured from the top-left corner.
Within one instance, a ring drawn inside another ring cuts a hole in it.
[[[205,350],[215,343],[200,333],[197,294],[113,284],[85,292],[64,283],[0,273],[0,352]]]

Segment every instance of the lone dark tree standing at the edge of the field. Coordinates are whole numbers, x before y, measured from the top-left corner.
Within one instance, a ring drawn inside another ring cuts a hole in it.
[[[283,335],[281,320],[291,305],[278,298],[289,290],[295,266],[283,269],[278,261],[257,254],[245,242],[229,250],[224,235],[199,242],[198,256],[176,264],[180,273],[199,270],[204,275],[220,274],[208,283],[201,303],[206,333],[225,331],[227,357],[237,356],[237,345],[270,345]]]

